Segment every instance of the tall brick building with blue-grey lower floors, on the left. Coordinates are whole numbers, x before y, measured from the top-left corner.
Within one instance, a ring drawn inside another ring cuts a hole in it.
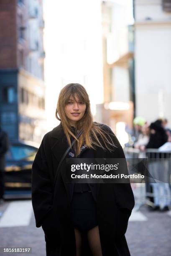
[[[42,0],[0,1],[0,124],[11,139],[46,132]]]

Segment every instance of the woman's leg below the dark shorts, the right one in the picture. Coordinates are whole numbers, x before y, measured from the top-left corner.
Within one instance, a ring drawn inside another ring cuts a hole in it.
[[[89,246],[93,256],[102,256],[102,248],[100,243],[99,227],[96,226],[87,232]]]

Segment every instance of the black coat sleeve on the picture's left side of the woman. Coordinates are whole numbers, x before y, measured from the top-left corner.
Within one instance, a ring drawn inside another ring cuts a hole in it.
[[[45,136],[32,166],[32,205],[37,228],[42,225],[42,220],[51,210],[53,202],[53,187],[45,154],[45,148],[48,150]]]

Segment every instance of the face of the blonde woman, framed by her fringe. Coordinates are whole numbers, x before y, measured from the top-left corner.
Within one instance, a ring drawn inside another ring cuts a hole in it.
[[[65,106],[66,116],[72,126],[75,126],[76,122],[82,119],[86,110],[86,104],[81,102],[77,95],[75,95],[75,99],[76,101],[70,97]]]

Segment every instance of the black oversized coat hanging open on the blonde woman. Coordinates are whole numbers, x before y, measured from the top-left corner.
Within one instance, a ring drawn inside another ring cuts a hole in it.
[[[117,146],[113,152],[96,147],[94,158],[125,158],[116,136],[107,125]],[[62,125],[46,133],[32,167],[32,204],[36,227],[45,233],[47,256],[76,256],[74,227],[70,219],[69,191],[64,182],[64,163],[54,177],[68,145]],[[128,219],[134,207],[129,183],[97,184],[97,218],[103,256],[129,256],[125,239]],[[91,256],[86,246],[82,256]]]

